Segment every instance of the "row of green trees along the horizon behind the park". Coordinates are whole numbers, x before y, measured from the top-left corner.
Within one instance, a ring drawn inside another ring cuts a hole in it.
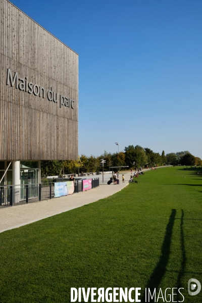
[[[119,153],[111,154],[105,150],[104,154],[99,157],[81,155],[77,160],[41,161],[41,176],[99,172],[103,169],[100,166],[101,159],[106,160],[104,164],[105,171],[109,171],[113,166],[128,166],[128,169],[135,169],[146,165],[148,167],[161,166],[167,163],[171,165],[202,165],[201,159],[191,155],[188,150],[167,155],[165,155],[163,150],[160,155],[147,147],[129,145],[125,147],[124,151]]]

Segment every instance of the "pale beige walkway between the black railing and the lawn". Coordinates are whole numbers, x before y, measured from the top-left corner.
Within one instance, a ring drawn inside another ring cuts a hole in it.
[[[0,210],[0,233],[106,198],[128,185],[130,173],[124,174],[124,176],[125,183],[122,183],[121,174],[119,175],[119,185],[114,185],[113,183],[111,185],[104,184],[73,195],[3,208]],[[105,178],[109,180],[110,175],[105,175]]]

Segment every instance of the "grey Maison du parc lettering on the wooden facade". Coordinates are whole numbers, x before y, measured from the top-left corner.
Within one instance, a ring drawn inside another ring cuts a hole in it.
[[[39,97],[45,98],[45,95],[46,95],[46,97],[49,101],[59,103],[60,108],[62,108],[62,106],[65,106],[67,108],[74,109],[74,102],[75,101],[73,99],[66,98],[63,95],[60,95],[60,97],[58,98],[59,94],[55,93],[55,91],[53,91],[53,87],[51,87],[51,89],[49,89],[47,91],[47,93],[45,93],[44,87],[39,86],[37,84],[33,84],[32,82],[29,82],[27,80],[27,77],[25,77],[25,79],[18,78],[18,73],[17,72],[15,72],[14,76],[12,76],[10,68],[7,69],[7,82],[6,82],[6,84],[9,85],[9,83],[11,84],[12,87],[15,85],[15,87],[18,88],[19,90],[23,90],[23,91],[26,91],[28,93],[33,93],[35,96],[38,95]]]

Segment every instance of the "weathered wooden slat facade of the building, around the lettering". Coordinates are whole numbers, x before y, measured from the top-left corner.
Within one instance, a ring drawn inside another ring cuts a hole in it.
[[[0,160],[76,160],[78,55],[7,0],[0,35]],[[44,87],[45,97],[6,85],[8,68]],[[48,101],[51,87],[75,108]]]

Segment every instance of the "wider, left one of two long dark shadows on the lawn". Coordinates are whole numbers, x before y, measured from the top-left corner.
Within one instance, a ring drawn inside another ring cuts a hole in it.
[[[146,285],[146,289],[149,288],[151,294],[154,293],[155,288],[156,289],[159,288],[159,285],[166,273],[166,267],[168,265],[169,256],[170,256],[171,238],[172,238],[172,233],[173,233],[175,216],[176,216],[176,210],[173,209],[171,212],[168,224],[166,226],[166,234],[165,234],[164,241],[163,241],[162,248],[161,248],[161,257]],[[148,292],[147,292],[147,294],[148,294]],[[141,297],[141,302],[144,302],[144,301],[145,301],[145,291]],[[154,302],[154,298],[151,299],[150,302]]]

